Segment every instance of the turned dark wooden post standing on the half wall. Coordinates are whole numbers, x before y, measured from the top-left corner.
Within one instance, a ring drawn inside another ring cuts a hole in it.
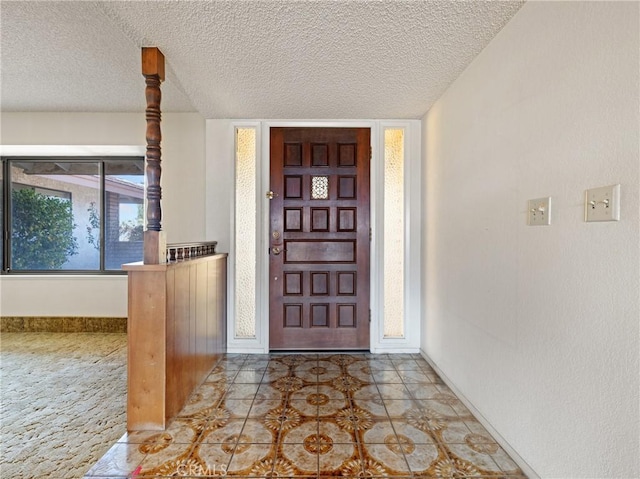
[[[157,48],[142,49],[142,74],[146,82],[145,96],[147,99],[147,227],[144,232],[144,263],[159,264],[166,262],[166,241],[162,232],[162,208],[160,199],[160,83],[164,81],[164,55]]]

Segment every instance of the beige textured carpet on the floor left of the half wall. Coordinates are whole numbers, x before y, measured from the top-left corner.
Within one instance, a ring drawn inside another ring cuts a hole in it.
[[[2,333],[0,477],[83,477],[126,432],[126,346],[122,333]]]

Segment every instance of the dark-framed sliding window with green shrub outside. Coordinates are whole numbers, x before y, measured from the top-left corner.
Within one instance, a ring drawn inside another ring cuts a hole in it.
[[[116,272],[142,260],[144,159],[2,158],[2,272]]]

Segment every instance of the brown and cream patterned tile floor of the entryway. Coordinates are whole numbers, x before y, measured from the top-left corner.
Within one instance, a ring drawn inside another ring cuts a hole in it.
[[[419,355],[227,355],[86,477],[525,479]]]

